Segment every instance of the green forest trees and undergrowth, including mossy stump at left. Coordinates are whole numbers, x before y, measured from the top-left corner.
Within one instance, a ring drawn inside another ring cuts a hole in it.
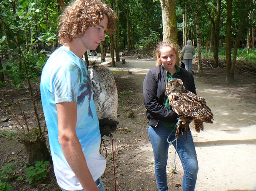
[[[118,19],[115,34],[106,35],[105,42],[96,50],[101,62],[105,61],[106,53],[111,55],[112,66],[116,66],[122,55],[152,57],[155,45],[162,40],[171,40],[182,48],[190,39],[196,49],[198,73],[202,71],[202,60],[206,60],[213,68],[226,68],[223,75],[228,83],[235,80],[236,62],[246,72],[256,74],[255,0],[103,2],[113,8]],[[31,171],[27,179],[31,185],[46,178],[46,161],[50,159],[45,144],[46,126],[38,115],[40,74],[48,56],[59,47],[58,16],[69,3],[69,0],[0,0],[0,86],[28,92],[37,123],[37,128],[27,123],[19,100],[15,104],[22,118],[15,117],[17,113],[9,109],[23,130],[18,137],[28,154],[26,164],[31,165],[27,168],[27,172]],[[88,56],[91,53],[84,54],[88,66],[95,64]],[[0,93],[2,96],[4,92]],[[10,105],[5,103],[6,108]],[[15,170],[12,163],[0,169],[0,190],[12,190],[5,181],[13,178]],[[41,171],[38,180],[34,176],[36,170]]]

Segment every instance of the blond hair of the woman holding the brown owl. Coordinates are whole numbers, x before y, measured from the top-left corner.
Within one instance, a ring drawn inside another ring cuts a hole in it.
[[[157,45],[157,47],[154,51],[154,57],[157,60],[156,66],[162,65],[162,62],[160,60],[160,54],[161,54],[161,50],[162,50],[163,47],[171,47],[174,50],[175,55],[176,55],[175,65],[179,66],[179,63],[180,63],[180,47],[177,44],[174,44],[174,43],[168,42],[168,41],[160,42]]]

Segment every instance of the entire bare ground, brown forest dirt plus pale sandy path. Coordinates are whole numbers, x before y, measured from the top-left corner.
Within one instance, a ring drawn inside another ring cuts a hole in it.
[[[110,61],[110,58],[107,58]],[[119,92],[117,131],[114,133],[114,159],[117,191],[156,191],[154,157],[147,133],[148,120],[142,100],[142,83],[145,74],[155,66],[154,60],[129,59],[126,64],[117,63],[111,68]],[[195,67],[195,66],[193,66]],[[195,69],[195,68],[194,68]],[[129,72],[128,72],[129,71]],[[203,66],[203,72],[195,74],[197,94],[206,99],[214,113],[214,123],[205,124],[201,133],[192,129],[199,162],[196,191],[255,191],[256,190],[256,78],[248,74],[236,74],[233,85],[225,83],[225,68],[213,69]],[[21,91],[0,87],[0,95],[9,103],[26,97]],[[0,97],[1,97],[0,96]],[[2,104],[2,105],[1,105]],[[16,176],[25,176],[22,170],[26,154],[17,142],[16,134],[7,137],[8,132],[21,128],[0,101],[0,117],[8,122],[0,123],[0,168],[4,163],[15,162]],[[19,113],[17,105],[12,110]],[[23,105],[27,120],[35,123],[30,102]],[[43,120],[41,103],[38,103]],[[127,117],[133,112],[134,117]],[[21,116],[19,115],[19,118]],[[7,130],[7,132],[5,132]],[[8,138],[8,139],[7,139]],[[112,143],[105,139],[107,168],[103,175],[106,191],[115,190]],[[106,154],[101,147],[102,155]],[[182,190],[183,168],[176,158],[177,173],[173,173],[175,149],[170,146],[167,176],[170,191]],[[17,178],[17,177],[16,177]],[[14,178],[11,183],[15,191],[59,191],[53,167],[49,167],[47,179],[36,186]]]

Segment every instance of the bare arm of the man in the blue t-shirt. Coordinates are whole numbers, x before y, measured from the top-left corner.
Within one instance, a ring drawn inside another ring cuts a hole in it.
[[[64,157],[83,186],[83,189],[85,191],[98,191],[76,135],[77,103],[58,103],[56,107],[58,116],[58,139]]]

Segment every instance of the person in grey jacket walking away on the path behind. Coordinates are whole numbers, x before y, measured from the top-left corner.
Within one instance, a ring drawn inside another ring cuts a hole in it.
[[[192,59],[193,55],[195,55],[195,49],[192,46],[192,41],[187,40],[187,44],[182,49],[182,57],[184,60],[185,68],[187,71],[192,71]]]

